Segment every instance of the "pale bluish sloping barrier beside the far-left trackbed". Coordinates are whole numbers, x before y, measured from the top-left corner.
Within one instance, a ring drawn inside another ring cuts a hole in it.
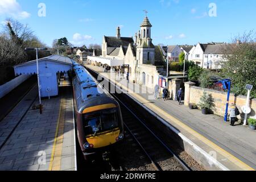
[[[11,90],[15,89],[17,86],[22,84],[23,81],[27,80],[31,75],[20,75],[13,80],[7,82],[0,86],[0,98],[4,97],[6,94],[11,92]]]

